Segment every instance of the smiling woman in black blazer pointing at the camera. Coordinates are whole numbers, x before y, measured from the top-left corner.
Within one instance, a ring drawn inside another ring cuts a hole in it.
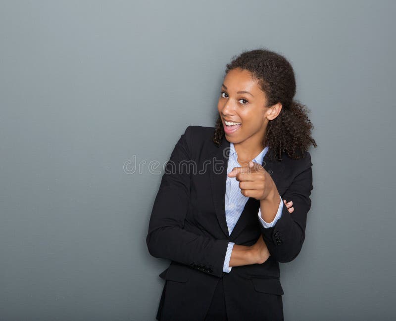
[[[286,58],[246,51],[226,67],[215,127],[180,137],[146,239],[171,260],[157,320],[283,320],[279,262],[305,238],[316,147],[295,92]]]

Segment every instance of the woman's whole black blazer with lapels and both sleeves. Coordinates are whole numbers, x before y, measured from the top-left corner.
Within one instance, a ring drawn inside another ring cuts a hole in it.
[[[257,217],[259,201],[250,197],[229,235],[224,202],[230,143],[223,138],[216,146],[213,134],[213,127],[187,127],[166,164],[154,200],[148,251],[171,260],[159,275],[166,282],[157,320],[203,321],[220,278],[229,321],[283,320],[278,262],[296,258],[305,238],[313,189],[310,154],[293,160],[283,153],[283,160],[274,162],[264,156],[262,166],[282,199],[293,201],[294,212],[284,206],[275,226],[266,229]],[[268,260],[223,273],[228,242],[253,245],[260,235],[271,254]]]

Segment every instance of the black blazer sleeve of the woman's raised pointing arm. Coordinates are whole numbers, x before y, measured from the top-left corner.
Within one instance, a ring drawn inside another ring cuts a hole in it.
[[[301,251],[305,239],[307,213],[311,208],[309,196],[313,186],[309,152],[305,152],[304,158],[299,162],[295,179],[282,195],[282,199],[293,201],[293,213],[289,213],[287,206],[284,206],[281,218],[273,227],[266,229],[259,225],[269,253],[281,263],[294,260]]]

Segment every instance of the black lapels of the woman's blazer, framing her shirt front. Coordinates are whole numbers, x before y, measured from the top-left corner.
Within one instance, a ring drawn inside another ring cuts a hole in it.
[[[230,150],[230,142],[223,136],[220,146],[216,146],[211,142],[208,149],[208,159],[210,160],[209,172],[210,183],[212,187],[213,204],[216,211],[217,220],[221,229],[227,238],[235,239],[238,234],[245,228],[249,221],[257,220],[260,202],[255,198],[249,197],[242,211],[242,214],[231,232],[228,233],[226,212],[225,212],[225,193],[227,180],[227,164]],[[272,180],[278,186],[281,181],[284,170],[284,163],[281,161],[271,161],[268,153],[265,154],[262,167],[271,175]],[[251,216],[255,216],[252,218]]]

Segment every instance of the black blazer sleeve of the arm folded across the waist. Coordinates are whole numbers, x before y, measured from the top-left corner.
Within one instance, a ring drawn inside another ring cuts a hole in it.
[[[184,229],[191,185],[192,126],[176,143],[154,200],[146,243],[157,258],[176,261],[221,276],[228,239],[214,239]]]

